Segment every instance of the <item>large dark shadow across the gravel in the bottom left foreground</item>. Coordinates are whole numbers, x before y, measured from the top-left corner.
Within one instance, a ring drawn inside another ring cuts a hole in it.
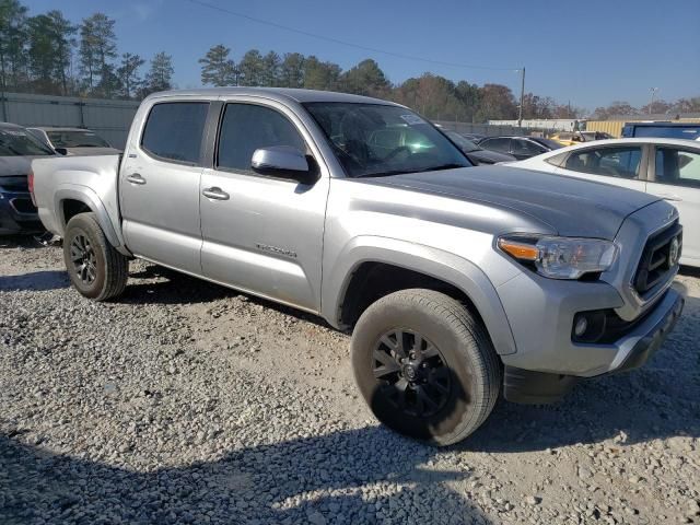
[[[490,524],[443,483],[467,472],[422,466],[434,452],[371,427],[138,472],[0,435],[0,522]]]

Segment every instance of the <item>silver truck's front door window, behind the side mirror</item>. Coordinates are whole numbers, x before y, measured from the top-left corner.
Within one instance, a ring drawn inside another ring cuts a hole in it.
[[[279,112],[254,104],[226,105],[219,135],[219,167],[249,172],[255,150],[272,145],[306,152],[304,139]]]

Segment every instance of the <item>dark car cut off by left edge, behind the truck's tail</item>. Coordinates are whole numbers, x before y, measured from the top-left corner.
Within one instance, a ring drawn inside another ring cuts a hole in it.
[[[32,160],[55,153],[21,126],[0,122],[0,235],[44,231],[32,202]]]

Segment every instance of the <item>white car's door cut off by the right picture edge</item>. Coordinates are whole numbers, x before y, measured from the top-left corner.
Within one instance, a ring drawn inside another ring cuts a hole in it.
[[[684,226],[682,264],[700,266],[700,149],[655,145],[646,190],[678,209]]]

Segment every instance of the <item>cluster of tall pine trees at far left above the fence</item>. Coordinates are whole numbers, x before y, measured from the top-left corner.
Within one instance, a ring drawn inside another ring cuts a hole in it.
[[[142,98],[173,86],[164,51],[147,60],[117,52],[115,21],[94,13],[73,24],[59,10],[30,16],[19,0],[0,0],[0,86],[50,95]]]

